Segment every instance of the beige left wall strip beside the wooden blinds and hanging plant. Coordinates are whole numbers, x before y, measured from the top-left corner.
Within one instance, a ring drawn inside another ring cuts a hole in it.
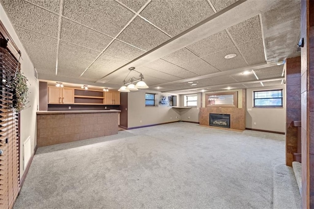
[[[31,150],[34,152],[36,146],[36,111],[38,106],[38,81],[34,78],[34,66],[28,57],[22,43],[20,42],[12,24],[10,23],[7,15],[5,14],[2,5],[0,4],[0,20],[6,30],[9,32],[13,41],[22,52],[21,71],[28,79],[28,101],[27,107],[21,112],[21,144],[20,144],[20,172],[21,177],[24,173],[23,169],[23,143],[28,136],[31,138]]]

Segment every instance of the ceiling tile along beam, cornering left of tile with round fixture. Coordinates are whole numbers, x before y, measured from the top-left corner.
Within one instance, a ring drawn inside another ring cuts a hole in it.
[[[189,50],[183,48],[181,50],[178,50],[177,52],[173,52],[161,58],[175,65],[179,65],[181,63],[188,62],[193,59],[197,59],[198,56],[196,56],[194,53],[190,52]]]

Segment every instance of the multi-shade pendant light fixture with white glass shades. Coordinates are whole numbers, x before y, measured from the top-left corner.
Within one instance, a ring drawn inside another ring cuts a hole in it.
[[[130,72],[128,73],[127,77],[129,76],[129,74],[131,73],[131,71],[135,71],[137,73],[139,73],[139,78],[135,78],[135,77],[131,77],[126,81],[126,78],[123,80],[123,86],[121,86],[121,88],[118,90],[120,92],[130,92],[130,91],[136,91],[138,89],[142,89],[142,88],[149,88],[148,85],[143,81],[144,76],[142,73],[138,72],[135,70],[134,67],[129,68]],[[134,82],[138,81],[135,85]],[[127,86],[128,85],[128,86]]]

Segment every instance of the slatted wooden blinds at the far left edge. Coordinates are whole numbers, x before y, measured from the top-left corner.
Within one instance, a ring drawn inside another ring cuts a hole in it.
[[[0,47],[0,209],[11,209],[19,193],[19,116],[11,107],[10,87],[19,69],[15,57]]]

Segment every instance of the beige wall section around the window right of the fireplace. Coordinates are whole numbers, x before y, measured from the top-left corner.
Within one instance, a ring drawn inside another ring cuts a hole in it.
[[[253,107],[253,91],[283,89],[283,108]],[[246,128],[266,131],[286,131],[286,96],[285,86],[250,88],[246,90]],[[254,125],[256,123],[256,125]]]

